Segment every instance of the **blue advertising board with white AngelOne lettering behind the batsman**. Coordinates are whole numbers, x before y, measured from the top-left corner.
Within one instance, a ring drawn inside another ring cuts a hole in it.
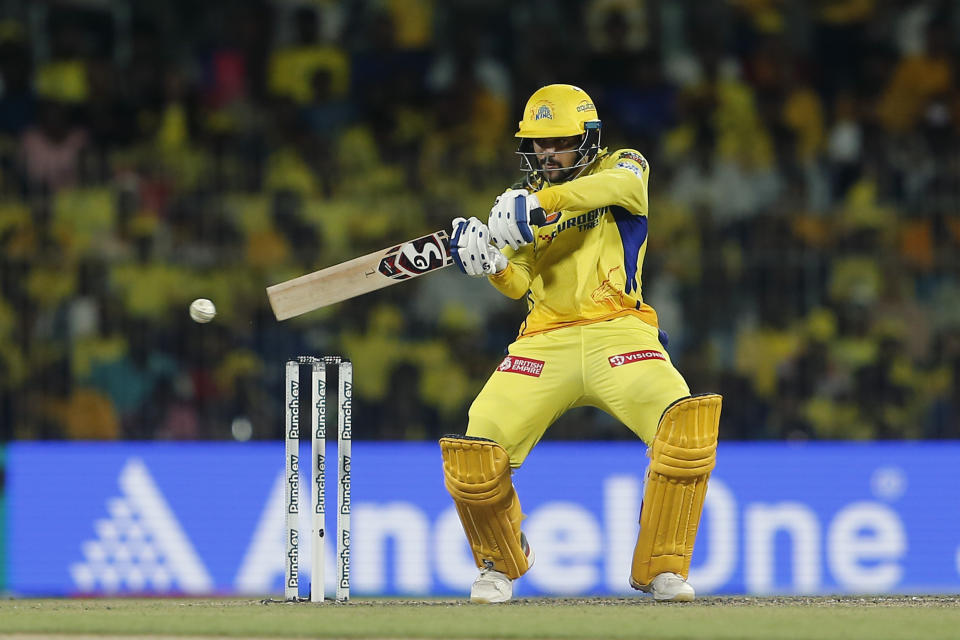
[[[331,472],[335,452],[330,442]],[[353,454],[353,593],[467,593],[475,569],[438,447],[355,442]],[[700,593],[960,592],[958,460],[956,442],[724,443],[691,582]],[[519,595],[632,593],[645,464],[639,443],[537,447],[515,475],[537,553]],[[7,587],[279,595],[282,497],[281,442],[14,443]],[[327,504],[332,514],[335,494]],[[304,571],[308,558],[304,548]]]

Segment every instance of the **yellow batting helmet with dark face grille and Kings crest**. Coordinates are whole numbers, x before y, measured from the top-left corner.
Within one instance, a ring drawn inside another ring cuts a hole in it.
[[[593,162],[600,150],[600,118],[587,92],[572,84],[550,84],[537,89],[523,109],[516,137],[520,138],[517,154],[520,168],[528,174],[528,183],[538,179],[540,158],[533,151],[538,138],[581,136],[577,162],[569,168],[562,182],[576,178]]]

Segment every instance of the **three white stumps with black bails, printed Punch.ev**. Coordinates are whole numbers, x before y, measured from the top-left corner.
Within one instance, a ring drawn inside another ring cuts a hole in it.
[[[340,356],[299,356],[288,360],[286,387],[286,558],[284,598],[299,600],[300,589],[300,366],[310,366],[313,539],[310,565],[310,602],[323,602],[324,542],[326,539],[327,366],[338,369],[337,411],[337,557],[336,599],[350,599],[350,450],[353,430],[353,363]]]

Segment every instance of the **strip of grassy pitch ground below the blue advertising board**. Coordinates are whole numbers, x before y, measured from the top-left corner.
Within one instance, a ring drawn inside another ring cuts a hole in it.
[[[354,599],[7,599],[0,639],[644,638],[937,640],[960,638],[960,596]]]

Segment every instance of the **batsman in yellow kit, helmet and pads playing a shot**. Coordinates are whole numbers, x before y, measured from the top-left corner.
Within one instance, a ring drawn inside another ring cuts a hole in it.
[[[589,405],[648,445],[630,584],[655,600],[693,600],[687,576],[720,396],[690,395],[643,301],[650,168],[633,149],[600,147],[597,109],[571,85],[537,90],[516,136],[526,180],[496,199],[486,224],[457,218],[450,236],[463,273],[528,306],[466,434],[440,440],[445,485],[480,570],[470,599],[510,600],[533,564],[512,472],[567,409]],[[546,224],[535,227],[538,209]]]

